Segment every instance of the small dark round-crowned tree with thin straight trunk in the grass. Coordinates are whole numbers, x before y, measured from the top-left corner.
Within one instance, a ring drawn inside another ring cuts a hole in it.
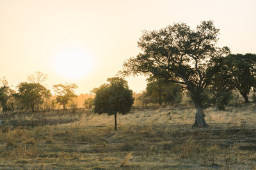
[[[94,112],[115,115],[115,131],[117,113],[126,114],[131,110],[134,97],[127,81],[122,78],[108,78],[109,84],[93,89],[95,93]]]

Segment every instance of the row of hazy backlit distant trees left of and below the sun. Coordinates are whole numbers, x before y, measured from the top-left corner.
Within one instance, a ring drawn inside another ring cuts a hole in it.
[[[72,101],[76,94],[74,90],[77,89],[77,85],[70,84],[58,84],[52,86],[57,97],[55,101],[51,101],[51,90],[47,89],[44,85],[44,81],[47,79],[47,75],[38,71],[31,76],[28,76],[28,82],[21,82],[17,85],[17,92],[13,90],[8,81],[5,78],[1,79],[3,88],[0,90],[0,101],[3,111],[14,110],[50,110],[50,105],[55,103],[61,104],[65,109],[68,102]]]

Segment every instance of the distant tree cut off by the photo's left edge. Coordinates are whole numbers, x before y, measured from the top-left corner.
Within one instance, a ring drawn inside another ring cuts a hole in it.
[[[8,85],[8,81],[3,77],[0,79],[0,83],[3,86],[0,89],[0,101],[3,111],[13,110],[13,94],[15,94],[15,90],[12,90]]]

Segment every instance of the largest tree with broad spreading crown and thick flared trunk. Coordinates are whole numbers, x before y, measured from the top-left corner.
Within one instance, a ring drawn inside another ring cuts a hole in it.
[[[214,99],[204,101],[204,92],[221,69],[218,60],[230,53],[227,47],[216,47],[218,32],[212,21],[202,22],[195,30],[182,23],[159,31],[143,31],[138,41],[141,52],[127,60],[120,73],[145,74],[179,83],[195,104],[193,127],[208,127],[204,110]]]

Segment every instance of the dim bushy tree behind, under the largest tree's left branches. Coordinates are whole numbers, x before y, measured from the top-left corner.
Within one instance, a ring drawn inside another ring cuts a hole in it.
[[[147,81],[147,96],[157,99],[159,106],[163,102],[166,104],[180,102],[182,90],[179,85],[154,77],[148,78]]]

